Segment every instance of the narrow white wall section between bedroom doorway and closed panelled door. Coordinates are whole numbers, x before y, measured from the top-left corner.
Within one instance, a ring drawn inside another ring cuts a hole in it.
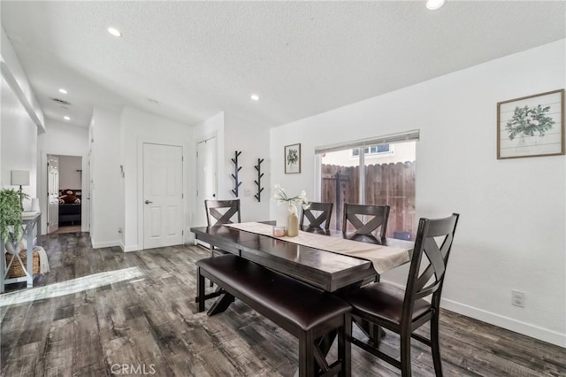
[[[90,235],[93,248],[120,245],[124,190],[120,175],[120,115],[95,108],[90,122]]]

